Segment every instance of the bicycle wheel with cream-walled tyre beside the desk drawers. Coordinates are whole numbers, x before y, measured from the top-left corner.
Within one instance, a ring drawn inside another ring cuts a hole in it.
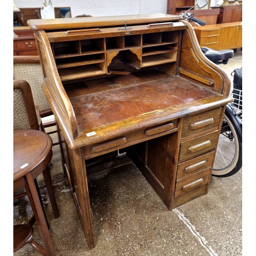
[[[222,130],[212,176],[229,177],[242,167],[242,140],[237,127],[226,114],[224,114]]]

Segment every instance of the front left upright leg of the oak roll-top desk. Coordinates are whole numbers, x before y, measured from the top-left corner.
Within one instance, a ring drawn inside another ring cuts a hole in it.
[[[78,203],[78,208],[80,209],[79,216],[82,223],[82,228],[84,236],[87,240],[87,245],[89,250],[94,247],[93,240],[93,226],[92,226],[92,214],[89,198],[89,190],[87,183],[87,173],[86,173],[86,162],[82,156],[81,150],[73,150],[73,160],[76,174],[76,199]]]

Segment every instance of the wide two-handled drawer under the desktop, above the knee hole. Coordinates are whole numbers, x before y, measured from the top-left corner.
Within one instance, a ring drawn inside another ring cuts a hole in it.
[[[178,120],[141,129],[118,138],[84,147],[87,159],[177,131]]]

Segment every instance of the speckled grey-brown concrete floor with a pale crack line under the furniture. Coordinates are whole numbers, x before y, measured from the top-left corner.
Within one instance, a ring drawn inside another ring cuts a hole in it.
[[[228,65],[242,67],[242,51]],[[232,79],[232,78],[231,78]],[[53,138],[54,139],[54,138]],[[242,169],[211,177],[208,194],[169,211],[133,163],[89,179],[95,248],[88,250],[71,190],[65,182],[59,147],[53,147],[52,181],[60,217],[54,219],[41,190],[56,255],[242,255]],[[27,197],[14,201],[14,224],[32,216]],[[40,243],[36,223],[34,239]],[[25,245],[15,256],[40,255]]]

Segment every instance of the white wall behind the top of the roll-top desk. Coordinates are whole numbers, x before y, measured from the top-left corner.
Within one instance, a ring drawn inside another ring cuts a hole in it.
[[[19,8],[43,7],[45,0],[14,0]],[[47,0],[48,2],[48,0]],[[72,17],[166,13],[167,0],[52,0],[54,7],[71,7]]]

